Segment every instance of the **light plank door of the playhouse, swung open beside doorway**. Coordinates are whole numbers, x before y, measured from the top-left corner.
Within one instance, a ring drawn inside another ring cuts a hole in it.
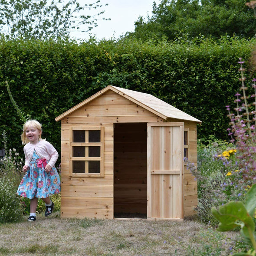
[[[184,123],[148,123],[148,218],[183,219]]]

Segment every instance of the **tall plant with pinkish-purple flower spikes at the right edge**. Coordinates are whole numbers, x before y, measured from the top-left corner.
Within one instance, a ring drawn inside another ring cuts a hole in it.
[[[240,169],[242,178],[239,184],[244,188],[251,187],[256,182],[256,79],[253,79],[252,88],[253,93],[250,96],[246,95],[248,87],[245,86],[245,76],[243,72],[243,61],[240,58],[240,72],[242,86],[240,88],[242,95],[236,93],[236,115],[230,112],[230,106],[226,106],[230,118],[230,126],[228,129],[231,136],[231,142],[236,144],[236,161],[233,162],[233,172],[236,174]],[[253,102],[249,103],[249,98]],[[240,102],[242,104],[240,105]]]

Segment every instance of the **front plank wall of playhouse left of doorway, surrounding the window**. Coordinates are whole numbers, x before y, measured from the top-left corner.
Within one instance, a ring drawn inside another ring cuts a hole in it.
[[[104,126],[104,177],[69,176],[69,129],[72,125],[75,124],[62,124],[61,216],[112,219],[113,124],[97,124]]]

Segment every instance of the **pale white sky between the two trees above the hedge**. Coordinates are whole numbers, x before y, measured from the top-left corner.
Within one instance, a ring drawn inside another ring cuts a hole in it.
[[[100,4],[104,6],[108,3],[108,6],[102,8],[105,13],[99,17],[110,18],[111,20],[98,20],[98,26],[93,28],[90,32],[92,36],[97,39],[118,39],[119,36],[125,35],[125,33],[133,32],[135,29],[134,23],[138,20],[139,16],[142,16],[147,20],[147,16],[151,16],[153,9],[153,2],[159,4],[161,0],[101,0]],[[90,0],[77,0],[80,5],[84,3],[92,3]],[[86,10],[86,15],[92,15],[95,10]],[[96,9],[99,11],[99,9]],[[100,18],[99,18],[100,19]],[[89,34],[72,32],[71,37],[76,39],[89,39]]]

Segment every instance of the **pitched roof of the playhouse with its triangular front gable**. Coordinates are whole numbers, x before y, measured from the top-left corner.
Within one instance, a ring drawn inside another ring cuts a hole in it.
[[[121,108],[120,105],[122,106]],[[154,97],[153,95],[123,89],[112,85],[105,87],[101,91],[87,98],[85,101],[79,103],[73,108],[70,108],[68,111],[56,117],[55,120],[59,121],[67,116],[90,117],[92,116],[90,115],[93,108],[92,106],[97,106],[98,109],[98,114],[96,113],[95,116],[116,116],[120,112],[120,115],[123,113],[131,116],[157,115],[164,120],[167,120],[167,118],[174,118],[201,123],[201,121],[197,118],[188,115],[187,113],[175,108],[159,98]],[[105,108],[104,106],[108,107]]]

